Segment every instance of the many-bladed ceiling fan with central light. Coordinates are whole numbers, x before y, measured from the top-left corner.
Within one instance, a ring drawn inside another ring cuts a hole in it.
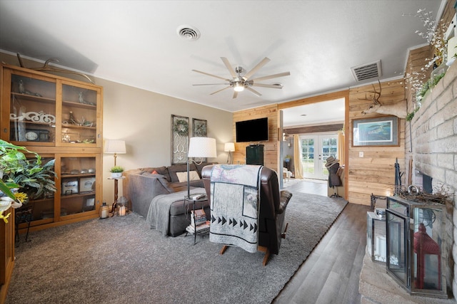
[[[273,74],[273,75],[268,75],[268,76],[263,76],[263,77],[258,77],[258,78],[253,78],[250,79],[252,75],[254,75],[263,65],[266,65],[268,61],[270,61],[269,58],[265,57],[261,62],[259,62],[255,67],[253,67],[252,70],[248,71],[248,73],[241,75],[245,70],[241,68],[241,66],[237,66],[236,68],[232,68],[232,65],[230,64],[229,60],[225,57],[221,57],[222,62],[226,65],[226,68],[229,70],[229,73],[231,75],[231,79],[229,78],[224,78],[220,77],[218,75],[213,75],[205,72],[201,72],[200,70],[193,70],[194,72],[201,73],[204,75],[209,75],[211,77],[219,78],[222,80],[226,80],[226,83],[204,83],[204,84],[199,84],[199,85],[229,85],[226,88],[223,88],[221,90],[216,90],[216,92],[211,93],[210,95],[219,93],[223,90],[233,88],[233,98],[236,98],[238,96],[238,92],[243,91],[244,89],[250,91],[256,96],[261,96],[261,93],[258,93],[256,90],[254,90],[251,87],[263,87],[263,88],[274,88],[274,89],[281,89],[283,88],[283,85],[281,83],[273,83],[271,85],[268,85],[266,83],[258,83],[257,81],[261,80],[268,80],[272,78],[278,78],[278,77],[283,77],[283,76],[288,76],[291,75],[290,72],[283,72],[283,73],[278,73],[278,74]]]

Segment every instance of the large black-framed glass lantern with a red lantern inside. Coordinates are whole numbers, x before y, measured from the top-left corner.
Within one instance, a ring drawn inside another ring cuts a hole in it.
[[[415,295],[447,298],[446,206],[388,197],[387,273]]]

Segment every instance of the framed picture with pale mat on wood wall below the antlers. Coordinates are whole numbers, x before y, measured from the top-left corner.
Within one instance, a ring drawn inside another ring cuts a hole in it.
[[[352,146],[398,146],[398,117],[352,120]]]

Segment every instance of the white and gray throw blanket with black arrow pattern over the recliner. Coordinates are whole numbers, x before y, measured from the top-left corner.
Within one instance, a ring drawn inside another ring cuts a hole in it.
[[[256,165],[214,165],[209,241],[257,251],[261,169]]]

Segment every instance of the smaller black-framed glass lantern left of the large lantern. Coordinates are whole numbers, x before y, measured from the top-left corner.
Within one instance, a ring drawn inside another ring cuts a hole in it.
[[[371,261],[386,263],[386,216],[366,213],[366,253]]]

